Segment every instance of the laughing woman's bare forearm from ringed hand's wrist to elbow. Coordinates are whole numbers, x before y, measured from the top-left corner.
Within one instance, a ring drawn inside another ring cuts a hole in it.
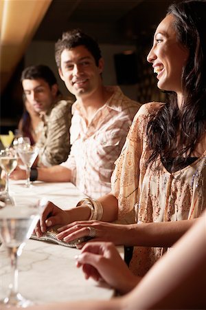
[[[128,225],[124,244],[144,247],[171,247],[195,220]]]

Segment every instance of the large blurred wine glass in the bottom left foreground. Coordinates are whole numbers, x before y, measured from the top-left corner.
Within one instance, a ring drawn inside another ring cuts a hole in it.
[[[1,300],[1,304],[16,307],[28,307],[32,304],[18,291],[18,258],[21,256],[25,241],[30,238],[41,214],[38,204],[22,203],[16,206],[0,208],[0,240],[8,249],[12,269],[10,293]],[[1,305],[0,304],[0,305]]]

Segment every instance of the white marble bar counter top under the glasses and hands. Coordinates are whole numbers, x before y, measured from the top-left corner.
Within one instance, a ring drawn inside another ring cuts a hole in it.
[[[35,182],[31,188],[24,181],[11,181],[10,190],[16,205],[22,200],[46,198],[58,207],[74,207],[85,197],[71,183]],[[119,252],[123,251],[119,247]],[[92,279],[85,280],[76,268],[74,257],[80,250],[53,243],[27,240],[19,257],[19,291],[36,304],[66,300],[109,299],[114,291]],[[7,295],[10,283],[10,260],[3,245],[0,247],[0,299]]]

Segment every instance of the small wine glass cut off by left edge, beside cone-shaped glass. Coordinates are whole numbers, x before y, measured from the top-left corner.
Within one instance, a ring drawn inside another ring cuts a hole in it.
[[[9,191],[9,176],[14,171],[17,166],[17,155],[14,149],[1,149],[0,152],[0,166],[5,171],[6,182],[5,182],[5,192],[10,196]]]

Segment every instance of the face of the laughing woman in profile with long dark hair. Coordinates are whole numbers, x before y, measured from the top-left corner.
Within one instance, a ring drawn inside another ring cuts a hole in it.
[[[159,80],[157,86],[161,90],[172,90],[179,94],[182,92],[181,72],[187,62],[189,50],[183,45],[176,44],[176,30],[171,27],[174,21],[172,14],[161,21],[147,60],[152,63],[154,72],[157,73]],[[181,102],[179,104],[181,106]]]

